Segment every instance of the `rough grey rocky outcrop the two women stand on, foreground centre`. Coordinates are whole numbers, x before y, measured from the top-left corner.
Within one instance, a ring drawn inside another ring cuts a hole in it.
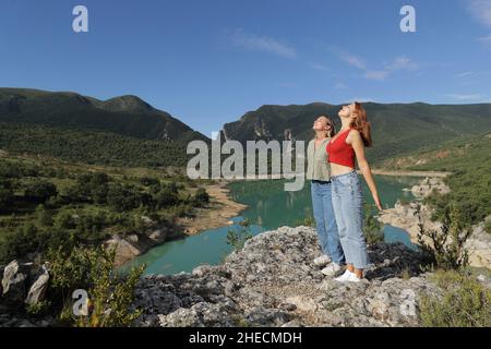
[[[404,244],[369,249],[359,284],[340,284],[312,264],[316,232],[283,227],[248,241],[223,265],[148,276],[136,289],[139,326],[418,326],[418,299],[438,293],[420,255]]]

